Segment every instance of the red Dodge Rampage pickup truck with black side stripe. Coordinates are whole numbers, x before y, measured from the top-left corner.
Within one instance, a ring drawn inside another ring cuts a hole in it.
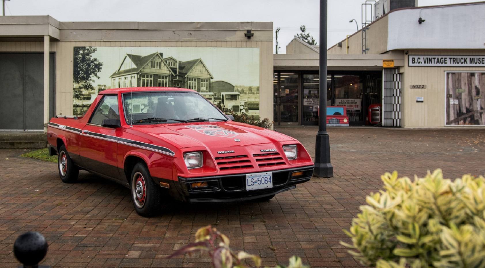
[[[163,197],[261,201],[310,180],[300,142],[233,119],[190,89],[108,89],[83,117],[49,121],[49,152],[63,182],[80,169],[114,180],[144,217],[161,212]]]

